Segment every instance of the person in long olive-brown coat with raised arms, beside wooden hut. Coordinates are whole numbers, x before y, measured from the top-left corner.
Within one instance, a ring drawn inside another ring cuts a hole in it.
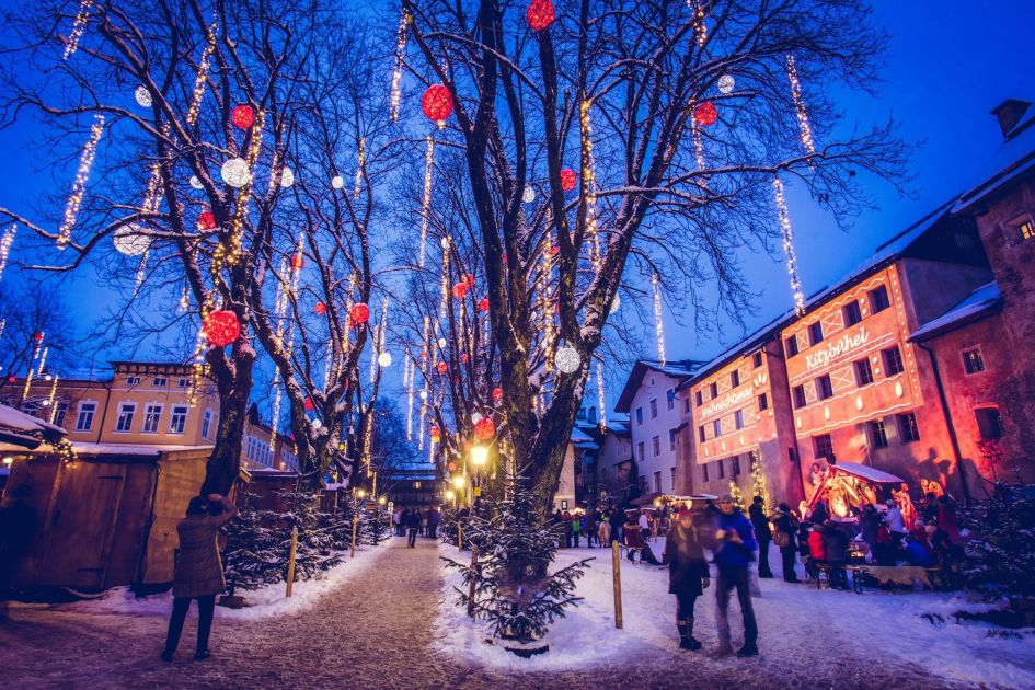
[[[176,525],[180,534],[180,553],[173,574],[173,611],[165,633],[162,660],[171,662],[180,644],[183,623],[191,608],[191,599],[197,599],[197,649],[194,659],[200,662],[209,656],[208,636],[212,630],[216,611],[216,595],[227,588],[227,580],[219,561],[216,539],[219,528],[237,516],[238,508],[227,496],[209,494],[195,496],[187,504],[187,515]]]

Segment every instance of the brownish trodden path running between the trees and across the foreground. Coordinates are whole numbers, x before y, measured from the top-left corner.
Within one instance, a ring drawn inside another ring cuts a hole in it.
[[[905,668],[872,660],[838,658],[825,648],[821,631],[803,636],[827,662],[763,655],[756,659],[712,659],[671,654],[662,667],[617,659],[590,671],[519,676],[469,666],[429,649],[441,598],[436,544],[404,548],[392,540],[376,567],[357,573],[307,611],[261,621],[217,619],[212,657],[191,660],[193,616],[177,657],[158,658],[165,620],[62,610],[12,611],[0,624],[0,687],[16,688],[824,688],[933,686]],[[674,640],[675,646],[675,640]],[[619,651],[616,651],[617,653]],[[818,670],[818,676],[817,676]]]

